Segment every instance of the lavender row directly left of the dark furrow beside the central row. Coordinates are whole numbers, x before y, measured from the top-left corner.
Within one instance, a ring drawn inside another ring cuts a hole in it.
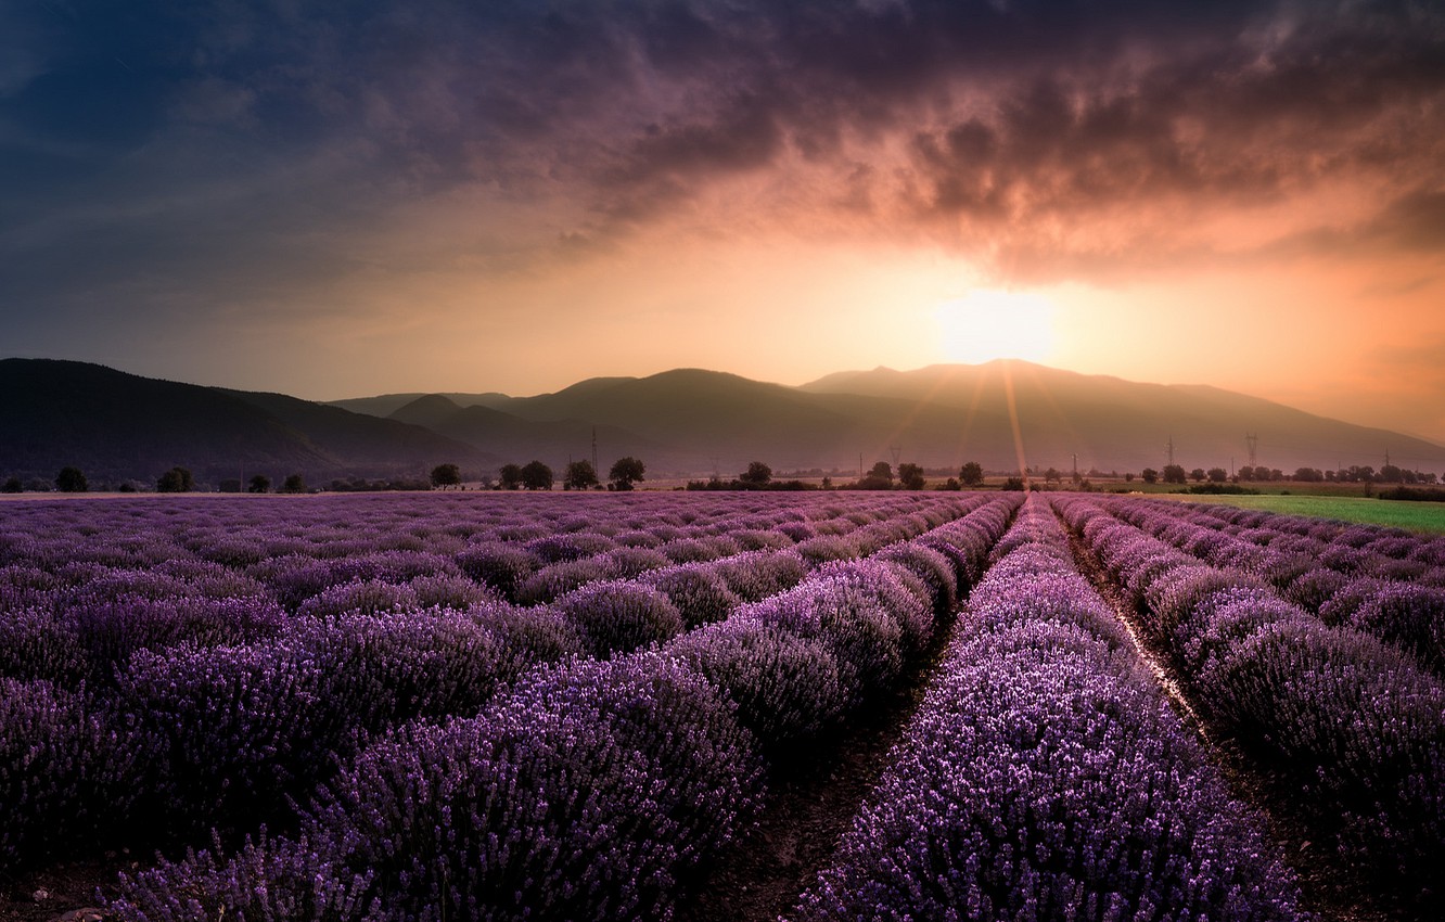
[[[299,835],[162,864],[111,909],[137,921],[670,918],[762,809],[782,753],[899,681],[1014,504],[824,565],[668,645],[533,672],[474,718],[399,728],[312,802]]]

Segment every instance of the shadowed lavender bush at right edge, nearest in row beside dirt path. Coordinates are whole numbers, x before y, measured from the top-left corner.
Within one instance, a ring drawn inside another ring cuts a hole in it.
[[[1201,675],[1205,704],[1300,788],[1350,860],[1429,887],[1445,841],[1445,691],[1403,653],[1309,620],[1266,624]]]

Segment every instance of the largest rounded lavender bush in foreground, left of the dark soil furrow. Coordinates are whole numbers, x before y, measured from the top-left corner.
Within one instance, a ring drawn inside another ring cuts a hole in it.
[[[400,918],[668,918],[760,795],[718,692],[657,656],[548,671],[367,749],[314,811]]]

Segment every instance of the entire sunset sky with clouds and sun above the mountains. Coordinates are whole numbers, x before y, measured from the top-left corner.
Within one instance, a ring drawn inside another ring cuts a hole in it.
[[[1445,444],[1445,4],[9,0],[0,356],[309,399],[1019,357]]]

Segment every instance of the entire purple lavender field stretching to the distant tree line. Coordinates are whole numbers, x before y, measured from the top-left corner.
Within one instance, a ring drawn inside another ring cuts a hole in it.
[[[156,856],[107,918],[704,918],[880,718],[756,918],[1445,910],[1445,539],[1062,493],[0,517],[0,880]]]

